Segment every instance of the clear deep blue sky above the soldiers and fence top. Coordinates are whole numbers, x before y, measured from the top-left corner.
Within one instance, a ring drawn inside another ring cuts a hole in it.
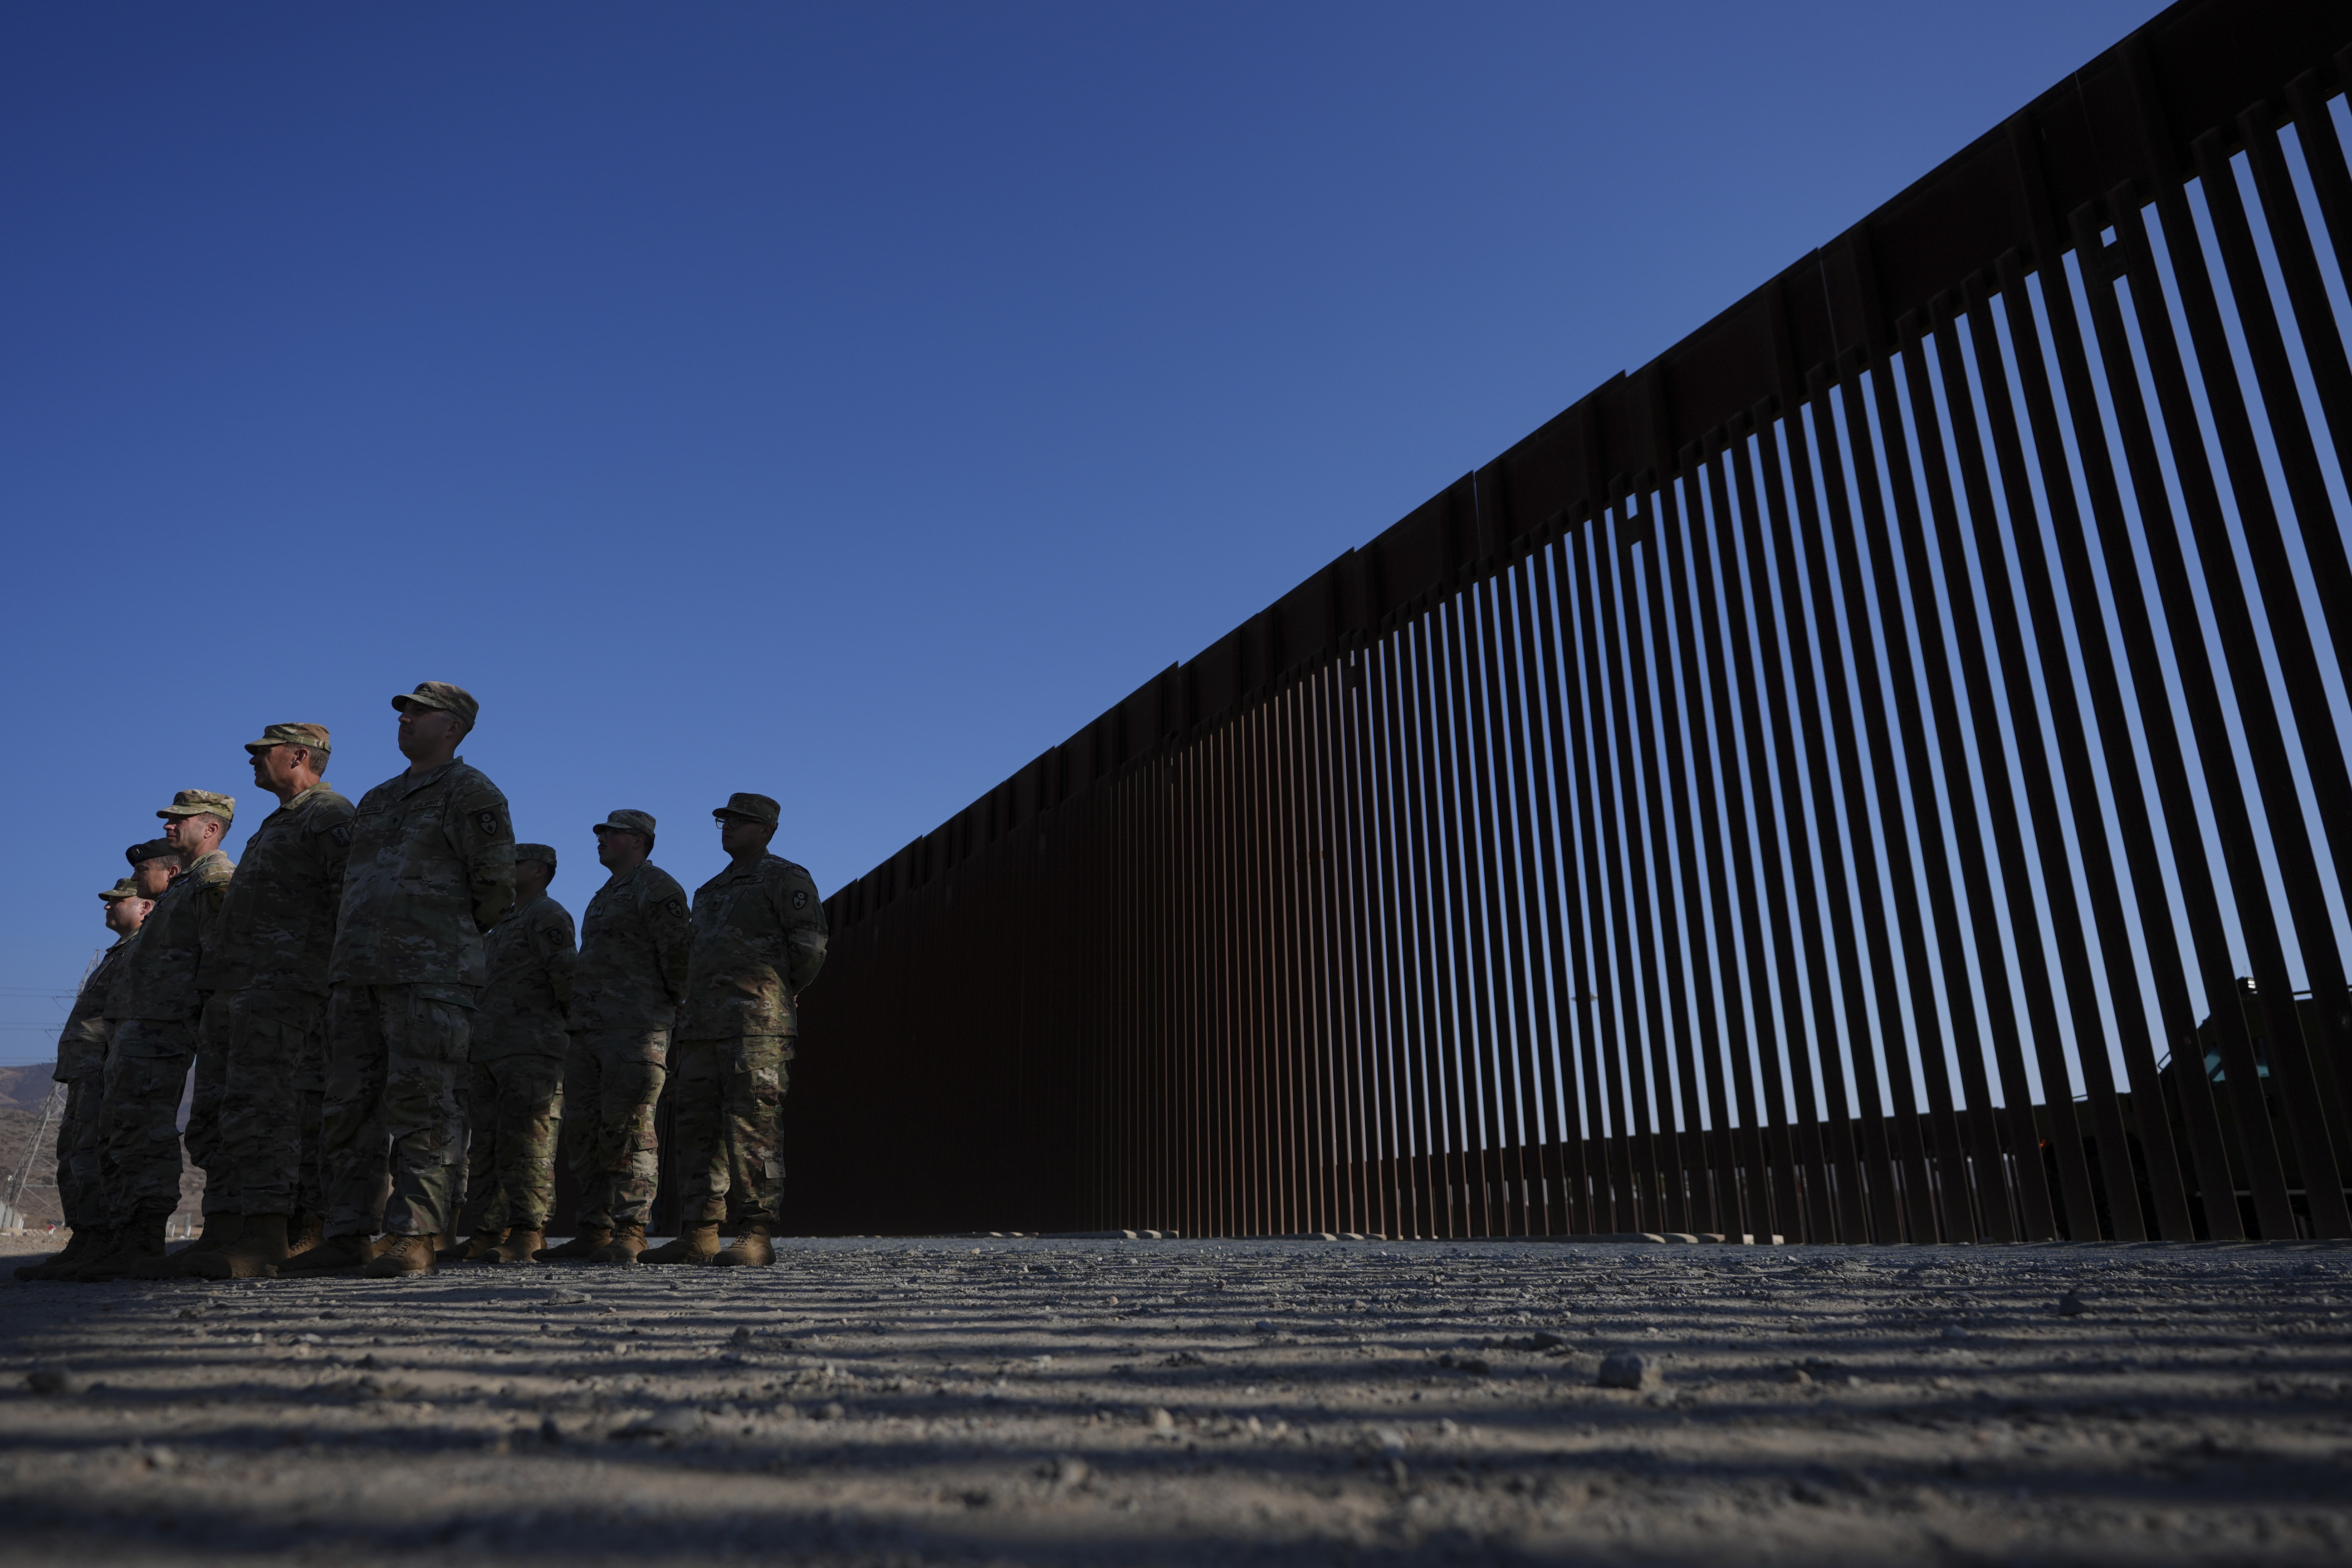
[[[2154,9],[9,7],[0,1060],[419,679],[830,891]]]

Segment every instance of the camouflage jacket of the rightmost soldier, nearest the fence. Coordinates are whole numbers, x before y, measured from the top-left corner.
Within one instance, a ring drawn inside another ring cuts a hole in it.
[[[734,865],[694,891],[694,964],[680,1039],[795,1034],[793,997],[826,966],[816,882],[781,856]]]

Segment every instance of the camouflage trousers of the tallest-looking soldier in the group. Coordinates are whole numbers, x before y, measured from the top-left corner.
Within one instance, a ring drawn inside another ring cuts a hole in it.
[[[327,1234],[433,1237],[454,1218],[466,1117],[468,987],[346,985],[327,999],[320,1166]],[[390,1150],[393,1194],[374,1211]]]

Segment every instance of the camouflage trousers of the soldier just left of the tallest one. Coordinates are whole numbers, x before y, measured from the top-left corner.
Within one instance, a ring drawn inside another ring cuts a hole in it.
[[[325,1088],[327,1004],[299,992],[245,990],[214,997],[221,1013],[219,1051],[205,1041],[198,1053],[198,1095],[205,1056],[223,1060],[221,1159],[240,1213],[320,1213],[318,1114]],[[191,1150],[195,1124],[188,1124]],[[308,1157],[308,1159],[306,1159]],[[214,1204],[207,1201],[212,1211]]]

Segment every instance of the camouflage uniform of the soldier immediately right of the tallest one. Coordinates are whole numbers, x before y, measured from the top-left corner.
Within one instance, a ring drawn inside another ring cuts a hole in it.
[[[482,1201],[473,1229],[546,1229],[555,1208],[555,1131],[564,1114],[564,1006],[576,961],[572,912],[541,893],[508,910],[482,947],[487,978],[473,1016],[466,1093],[468,1187]]]

